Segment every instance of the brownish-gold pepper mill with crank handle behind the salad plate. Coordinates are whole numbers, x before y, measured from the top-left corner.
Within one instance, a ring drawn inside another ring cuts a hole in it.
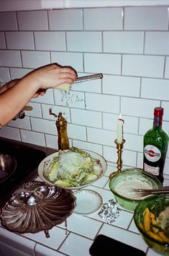
[[[50,109],[50,115],[55,115]],[[66,150],[69,149],[68,133],[67,133],[67,121],[63,118],[62,112],[59,112],[59,115],[55,115],[56,118],[56,127],[58,130],[58,149]]]

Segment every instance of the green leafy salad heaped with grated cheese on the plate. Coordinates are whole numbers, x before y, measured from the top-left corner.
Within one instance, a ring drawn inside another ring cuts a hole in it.
[[[55,185],[79,187],[97,180],[103,173],[101,161],[86,151],[71,147],[58,151],[47,169],[45,177]]]

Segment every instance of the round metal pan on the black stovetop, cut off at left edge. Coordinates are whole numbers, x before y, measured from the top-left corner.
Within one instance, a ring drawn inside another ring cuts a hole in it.
[[[0,154],[0,183],[4,182],[14,173],[17,168],[17,161],[9,154]]]

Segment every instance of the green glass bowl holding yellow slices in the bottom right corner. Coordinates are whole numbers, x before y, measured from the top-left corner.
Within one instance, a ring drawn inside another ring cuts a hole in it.
[[[168,212],[166,213],[165,209],[167,207]],[[161,255],[169,255],[168,216],[169,194],[153,195],[150,198],[145,198],[134,210],[134,223],[137,229],[139,229],[148,246]],[[163,228],[160,229],[158,226]]]

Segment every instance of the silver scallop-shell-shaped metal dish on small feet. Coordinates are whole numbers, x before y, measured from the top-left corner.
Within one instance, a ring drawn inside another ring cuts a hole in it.
[[[44,230],[50,237],[48,230],[63,223],[75,207],[71,190],[32,180],[18,187],[1,208],[1,224],[21,234]]]

